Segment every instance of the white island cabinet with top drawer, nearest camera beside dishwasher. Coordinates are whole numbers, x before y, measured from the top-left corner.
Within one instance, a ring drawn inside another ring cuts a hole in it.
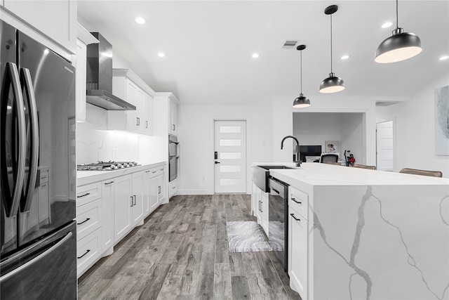
[[[309,299],[307,202],[307,194],[290,188],[290,199],[288,200],[288,275],[290,276],[290,287],[298,292],[302,299]]]

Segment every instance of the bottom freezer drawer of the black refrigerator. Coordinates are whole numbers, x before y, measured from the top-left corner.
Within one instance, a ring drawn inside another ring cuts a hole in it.
[[[0,299],[76,299],[76,223],[0,263]]]

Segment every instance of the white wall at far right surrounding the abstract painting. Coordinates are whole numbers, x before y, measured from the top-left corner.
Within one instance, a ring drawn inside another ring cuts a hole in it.
[[[439,170],[449,178],[449,155],[435,155],[434,91],[449,85],[449,73],[417,93],[410,101],[377,107],[377,120],[394,119],[396,160],[402,168]]]

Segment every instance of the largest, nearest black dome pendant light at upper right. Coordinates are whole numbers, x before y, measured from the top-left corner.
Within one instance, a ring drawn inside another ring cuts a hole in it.
[[[396,63],[417,56],[422,51],[420,38],[411,32],[404,32],[398,25],[398,0],[396,0],[396,29],[391,37],[384,39],[377,47],[376,63]]]

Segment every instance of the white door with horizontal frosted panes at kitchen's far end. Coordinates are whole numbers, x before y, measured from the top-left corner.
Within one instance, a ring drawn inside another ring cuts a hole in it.
[[[215,120],[215,193],[246,193],[246,121]]]

